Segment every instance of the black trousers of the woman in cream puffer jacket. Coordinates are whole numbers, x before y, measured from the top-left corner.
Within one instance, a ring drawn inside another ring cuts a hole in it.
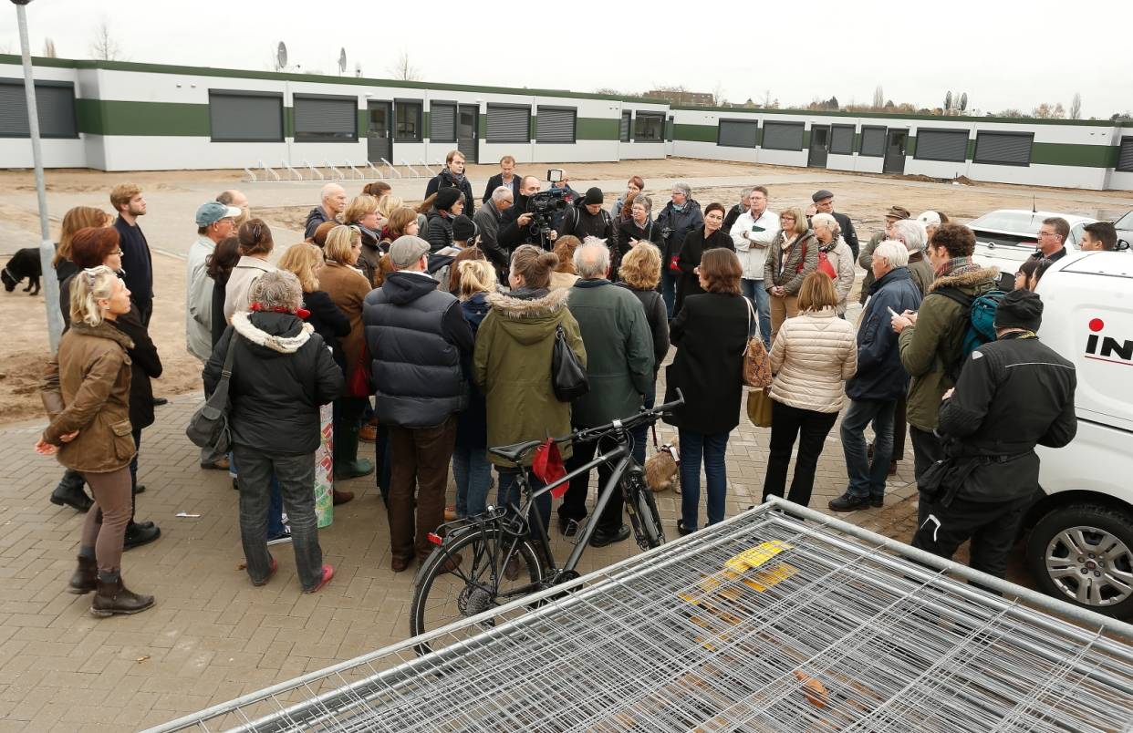
[[[799,455],[794,461],[794,477],[786,498],[803,506],[810,503],[810,493],[815,488],[815,467],[818,464],[818,457],[823,454],[826,436],[837,419],[837,412],[801,410],[772,400],[772,438],[767,475],[764,477],[764,501],[772,495],[783,495],[791,451],[794,450],[798,437]]]

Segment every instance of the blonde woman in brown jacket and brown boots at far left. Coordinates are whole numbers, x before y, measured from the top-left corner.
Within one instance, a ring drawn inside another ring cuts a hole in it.
[[[130,291],[104,265],[80,271],[71,284],[71,327],[51,357],[40,387],[50,423],[35,452],[57,454],[79,471],[94,494],[83,523],[78,566],[68,590],[95,591],[94,616],[131,614],[153,606],[153,596],[122,583],[126,525],[133,512],[130,460],[129,336],[113,322],[130,312]]]

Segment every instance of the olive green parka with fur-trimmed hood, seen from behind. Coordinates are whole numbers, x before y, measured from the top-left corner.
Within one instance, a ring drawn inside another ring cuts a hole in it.
[[[571,290],[520,290],[487,297],[492,310],[480,323],[472,357],[472,380],[484,391],[488,445],[560,437],[570,433],[570,402],[555,399],[551,353],[555,329],[586,366],[586,347],[578,322],[566,308]],[[520,296],[528,297],[520,297]],[[571,446],[562,446],[569,458]],[[512,467],[488,453],[488,460]]]

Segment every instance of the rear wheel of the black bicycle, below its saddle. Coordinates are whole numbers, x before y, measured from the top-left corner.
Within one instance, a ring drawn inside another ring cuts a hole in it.
[[[496,608],[535,593],[542,579],[539,559],[526,537],[499,528],[471,527],[446,539],[421,566],[409,607],[409,632],[416,637]],[[423,642],[417,651],[427,654],[502,621],[504,617],[489,616],[460,632]]]

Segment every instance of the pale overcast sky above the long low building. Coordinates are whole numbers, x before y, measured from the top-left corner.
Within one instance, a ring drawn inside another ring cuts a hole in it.
[[[488,11],[489,8],[497,8]],[[587,11],[585,8],[598,10]],[[0,50],[19,53],[15,7],[0,8]],[[902,15],[904,14],[904,15]],[[283,41],[304,71],[390,78],[402,50],[426,82],[639,93],[683,85],[781,105],[837,96],[1025,112],[1041,102],[1082,117],[1133,111],[1133,2],[219,2],[34,0],[32,53],[91,58],[105,18],[129,61],[271,68]]]

